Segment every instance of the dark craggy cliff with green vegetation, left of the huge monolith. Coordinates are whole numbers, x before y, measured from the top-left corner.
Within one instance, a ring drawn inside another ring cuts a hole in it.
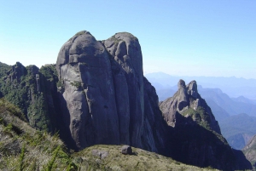
[[[56,129],[52,124],[56,117],[52,95],[57,77],[51,67],[39,70],[37,66],[25,67],[17,62],[0,79],[0,94],[20,107],[32,127],[48,132]]]

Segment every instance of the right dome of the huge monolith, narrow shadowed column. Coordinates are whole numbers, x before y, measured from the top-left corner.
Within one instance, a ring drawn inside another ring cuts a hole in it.
[[[129,136],[131,145],[143,147],[141,141],[144,116],[143,55],[140,44],[137,37],[127,32],[117,33],[103,41],[103,44],[112,61],[119,121],[123,123],[120,128],[121,136],[126,134],[122,139],[127,140]],[[129,134],[127,134],[128,130]]]

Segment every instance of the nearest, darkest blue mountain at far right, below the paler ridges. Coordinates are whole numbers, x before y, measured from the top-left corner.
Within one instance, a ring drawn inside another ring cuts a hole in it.
[[[221,132],[230,146],[241,150],[256,134],[256,117],[245,113],[227,117],[218,122]]]

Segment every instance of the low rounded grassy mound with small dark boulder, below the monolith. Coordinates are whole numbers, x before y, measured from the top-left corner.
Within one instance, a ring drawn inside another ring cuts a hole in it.
[[[83,151],[73,154],[74,161],[81,170],[98,168],[100,170],[211,170],[211,168],[197,168],[182,162],[163,157],[159,154],[132,148],[133,155],[121,154],[122,145],[93,145]],[[95,155],[93,151],[97,151]],[[101,157],[100,153],[108,153]]]

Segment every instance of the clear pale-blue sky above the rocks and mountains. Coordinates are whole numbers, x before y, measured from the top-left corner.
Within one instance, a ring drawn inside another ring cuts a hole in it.
[[[256,78],[255,0],[0,0],[0,61],[55,63],[82,30],[98,40],[131,32],[144,73]]]

